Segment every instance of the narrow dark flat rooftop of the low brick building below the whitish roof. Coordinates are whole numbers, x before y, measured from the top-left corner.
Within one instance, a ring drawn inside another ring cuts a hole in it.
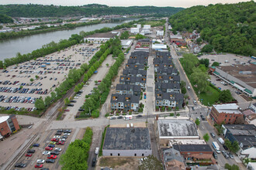
[[[173,145],[178,151],[213,151],[209,145]]]

